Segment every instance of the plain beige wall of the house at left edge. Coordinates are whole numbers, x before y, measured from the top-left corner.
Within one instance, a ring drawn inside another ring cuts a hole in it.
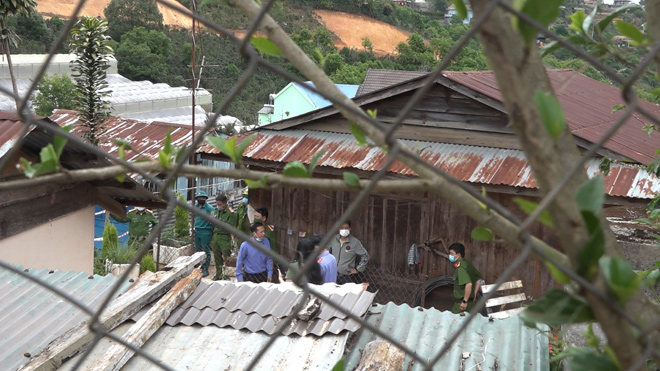
[[[0,260],[26,268],[94,270],[94,207],[0,240]]]

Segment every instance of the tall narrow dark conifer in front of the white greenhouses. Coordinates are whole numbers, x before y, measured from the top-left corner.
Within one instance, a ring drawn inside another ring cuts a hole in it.
[[[103,132],[103,122],[108,117],[110,104],[107,101],[110,90],[106,80],[108,59],[112,48],[108,45],[108,22],[93,17],[83,17],[71,30],[69,48],[76,55],[71,70],[78,94],[76,106],[80,110],[83,136],[92,144],[98,144]]]

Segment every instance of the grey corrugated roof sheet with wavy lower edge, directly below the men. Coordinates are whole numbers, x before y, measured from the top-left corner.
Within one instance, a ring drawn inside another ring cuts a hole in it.
[[[315,286],[334,303],[352,314],[362,316],[371,306],[375,293],[366,291],[362,284]],[[193,326],[215,325],[250,332],[275,333],[279,322],[291,315],[292,308],[302,299],[299,288],[291,283],[253,284],[217,281],[202,282],[195,292],[167,319],[167,324]],[[145,307],[133,319],[138,320],[149,308]],[[345,313],[321,303],[319,313],[311,321],[294,320],[284,335],[322,336],[356,331],[360,325]]]

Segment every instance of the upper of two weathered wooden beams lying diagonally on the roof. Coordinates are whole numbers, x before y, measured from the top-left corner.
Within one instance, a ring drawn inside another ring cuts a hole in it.
[[[146,304],[166,293],[183,277],[188,276],[206,256],[202,252],[182,256],[160,271],[145,277],[117,299],[110,302],[99,321],[106,331],[112,331],[125,320],[139,312]],[[87,349],[94,339],[89,319],[53,340],[46,349],[19,370],[55,370],[62,362]]]

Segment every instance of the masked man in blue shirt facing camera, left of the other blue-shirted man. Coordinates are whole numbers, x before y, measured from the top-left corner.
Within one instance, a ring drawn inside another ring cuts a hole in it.
[[[270,250],[270,244],[266,239],[266,228],[261,223],[254,223],[250,227],[252,239],[241,244],[236,259],[236,280],[252,281],[254,283],[272,282],[273,260],[261,252],[256,246],[260,243]],[[245,272],[243,270],[245,269]]]

